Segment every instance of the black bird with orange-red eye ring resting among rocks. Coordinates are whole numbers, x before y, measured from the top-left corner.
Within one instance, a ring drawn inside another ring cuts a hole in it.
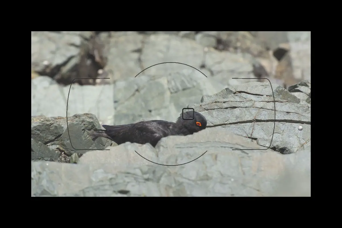
[[[183,120],[192,119],[193,120]],[[184,112],[175,123],[164,120],[150,120],[124,125],[102,125],[106,130],[95,130],[94,137],[105,137],[117,144],[126,142],[156,146],[162,137],[169,135],[190,135],[206,129],[207,120],[199,112]]]

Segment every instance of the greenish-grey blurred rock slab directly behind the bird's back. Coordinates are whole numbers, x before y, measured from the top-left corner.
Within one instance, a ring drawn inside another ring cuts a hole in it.
[[[195,69],[153,80],[146,77],[139,75],[115,84],[115,124],[133,123],[142,118],[174,121],[188,103],[198,102],[202,94],[214,94],[224,88]]]

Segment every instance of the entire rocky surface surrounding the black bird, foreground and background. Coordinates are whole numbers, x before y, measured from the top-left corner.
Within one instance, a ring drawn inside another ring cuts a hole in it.
[[[31,57],[32,196],[311,195],[311,32],[32,32]],[[206,130],[89,137],[185,107]]]

